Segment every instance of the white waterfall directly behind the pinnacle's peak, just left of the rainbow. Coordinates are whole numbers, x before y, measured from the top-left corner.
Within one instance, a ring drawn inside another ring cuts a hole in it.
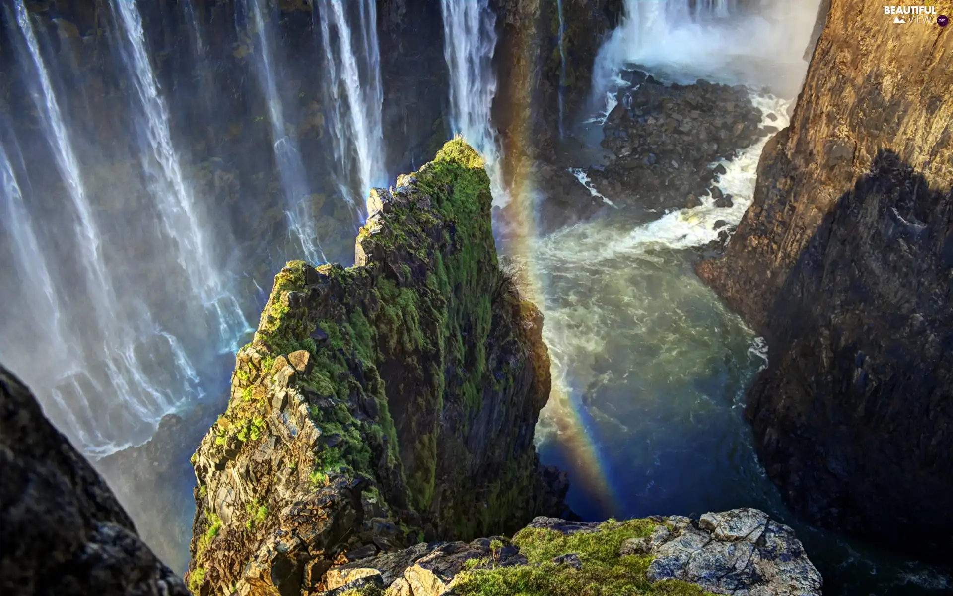
[[[493,52],[497,47],[496,15],[489,0],[440,0],[443,52],[450,69],[451,126],[482,155],[490,176],[495,205],[509,202],[503,184],[499,139],[490,121],[497,92]]]

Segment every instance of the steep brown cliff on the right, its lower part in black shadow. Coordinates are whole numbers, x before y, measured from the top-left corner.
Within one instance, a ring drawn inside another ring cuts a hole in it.
[[[787,500],[947,561],[951,35],[832,0],[755,202],[725,256],[699,267],[768,339],[746,412]]]

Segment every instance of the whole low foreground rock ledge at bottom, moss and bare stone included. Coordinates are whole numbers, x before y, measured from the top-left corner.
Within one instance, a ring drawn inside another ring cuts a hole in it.
[[[613,575],[602,575],[609,568]],[[512,542],[495,536],[420,544],[340,565],[327,578],[322,596],[349,590],[464,596],[487,593],[482,586],[508,593],[506,587],[515,585],[532,586],[534,593],[549,593],[550,585],[576,593],[568,590],[574,582],[631,586],[639,594],[697,594],[698,588],[737,596],[821,594],[821,574],[791,528],[750,508],[706,513],[697,521],[673,516],[594,524],[540,517]]]

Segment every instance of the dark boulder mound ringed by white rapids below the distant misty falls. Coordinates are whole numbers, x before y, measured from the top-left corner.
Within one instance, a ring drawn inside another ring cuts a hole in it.
[[[589,172],[596,189],[644,208],[697,206],[706,195],[730,207],[731,195],[717,186],[724,168],[710,164],[777,132],[760,126],[762,114],[747,89],[705,80],[664,85],[643,72],[626,75],[632,87],[618,92],[603,129],[602,147],[616,158]],[[767,114],[768,120],[777,117]]]

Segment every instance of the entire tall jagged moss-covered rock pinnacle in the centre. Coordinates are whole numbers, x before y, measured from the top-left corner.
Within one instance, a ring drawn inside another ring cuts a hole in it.
[[[312,593],[332,565],[562,509],[533,447],[542,317],[499,270],[490,204],[450,141],[371,192],[354,267],[275,277],[193,456],[194,592]]]

